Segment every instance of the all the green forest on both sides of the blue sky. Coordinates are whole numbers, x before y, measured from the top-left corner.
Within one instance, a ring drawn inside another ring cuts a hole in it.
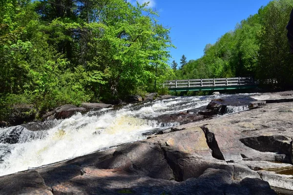
[[[178,65],[170,63],[171,29],[147,3],[0,0],[0,120],[23,104],[42,114],[63,104],[166,93],[161,83],[168,79],[252,76],[291,88],[292,8],[293,0],[273,0],[207,44],[202,58],[183,55]]]

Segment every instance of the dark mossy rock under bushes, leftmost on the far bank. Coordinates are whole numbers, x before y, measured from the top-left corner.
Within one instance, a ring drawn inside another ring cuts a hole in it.
[[[10,112],[8,123],[14,126],[24,122],[31,122],[35,119],[36,113],[36,109],[30,105],[15,106]]]

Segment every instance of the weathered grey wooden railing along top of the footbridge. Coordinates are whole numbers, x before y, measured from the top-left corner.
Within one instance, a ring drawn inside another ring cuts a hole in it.
[[[234,86],[234,85],[254,85],[251,77],[237,78],[205,78],[187,80],[167,80],[164,87],[167,88],[186,88],[186,87],[215,87],[215,86]]]

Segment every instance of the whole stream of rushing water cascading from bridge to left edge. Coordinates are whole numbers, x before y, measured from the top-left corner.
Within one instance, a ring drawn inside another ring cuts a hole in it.
[[[205,109],[214,98],[237,100],[237,106],[227,107],[227,114],[247,110],[245,105],[251,100],[248,97],[248,94],[178,97],[0,128],[0,176],[146,139],[148,132],[179,125],[159,122],[160,116],[188,110],[195,113]]]

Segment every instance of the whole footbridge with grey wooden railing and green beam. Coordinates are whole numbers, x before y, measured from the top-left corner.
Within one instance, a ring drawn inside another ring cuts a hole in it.
[[[267,84],[277,83],[276,79],[265,81]],[[258,86],[260,81],[254,81],[251,77],[238,78],[206,78],[188,80],[167,80],[164,87],[169,91],[219,91],[232,89],[251,89]]]

